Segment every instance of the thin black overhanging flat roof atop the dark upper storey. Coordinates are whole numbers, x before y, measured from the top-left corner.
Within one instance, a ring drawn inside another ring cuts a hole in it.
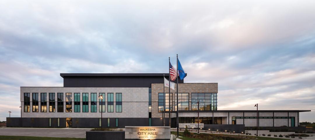
[[[60,76],[168,76],[169,73],[60,73]]]

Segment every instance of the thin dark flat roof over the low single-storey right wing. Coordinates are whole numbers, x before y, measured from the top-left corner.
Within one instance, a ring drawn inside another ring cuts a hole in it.
[[[178,110],[179,112],[197,112],[197,110]],[[258,110],[258,112],[308,112],[311,110]],[[171,111],[176,112],[176,111]],[[199,110],[199,112],[257,112],[257,110]]]

